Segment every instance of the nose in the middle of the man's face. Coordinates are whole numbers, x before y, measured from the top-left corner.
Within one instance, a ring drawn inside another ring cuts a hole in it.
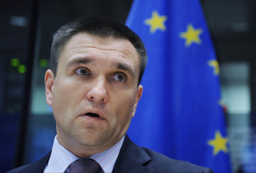
[[[108,100],[106,91],[106,79],[104,77],[95,79],[86,95],[88,100],[106,103]]]

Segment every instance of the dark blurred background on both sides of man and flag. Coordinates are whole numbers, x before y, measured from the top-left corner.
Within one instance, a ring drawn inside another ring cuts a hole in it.
[[[83,15],[125,23],[132,2],[1,0],[1,171],[37,160],[53,145],[55,120],[45,100],[44,75],[54,32]],[[232,171],[255,171],[256,1],[200,2],[220,66]]]

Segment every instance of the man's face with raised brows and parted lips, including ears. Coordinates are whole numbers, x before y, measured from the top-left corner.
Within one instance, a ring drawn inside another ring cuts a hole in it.
[[[45,76],[58,142],[74,154],[116,144],[142,95],[139,69],[138,54],[128,40],[74,35],[59,55],[55,78],[51,70]]]

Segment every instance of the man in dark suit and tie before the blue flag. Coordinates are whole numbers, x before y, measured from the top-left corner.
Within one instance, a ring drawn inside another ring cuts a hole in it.
[[[146,62],[142,40],[117,21],[90,16],[61,27],[45,74],[57,129],[53,149],[11,172],[76,172],[73,163],[88,158],[98,172],[211,172],[138,147],[126,135]]]

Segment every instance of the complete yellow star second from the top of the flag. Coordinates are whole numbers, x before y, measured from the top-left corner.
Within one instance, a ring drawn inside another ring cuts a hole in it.
[[[192,24],[187,24],[187,30],[179,34],[179,37],[186,40],[185,46],[189,47],[192,43],[201,44],[202,41],[199,35],[202,34],[203,30],[201,28],[194,29]]]

